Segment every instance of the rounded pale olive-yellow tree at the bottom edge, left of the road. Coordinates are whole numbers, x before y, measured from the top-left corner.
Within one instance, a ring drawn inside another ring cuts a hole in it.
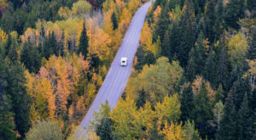
[[[38,120],[32,125],[29,132],[26,133],[27,140],[34,139],[55,139],[63,140],[64,135],[61,127],[53,120]]]

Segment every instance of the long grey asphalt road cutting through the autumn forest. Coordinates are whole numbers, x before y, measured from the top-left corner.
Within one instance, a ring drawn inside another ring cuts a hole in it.
[[[138,8],[137,13],[134,14],[119,51],[108,70],[108,75],[103,81],[102,87],[97,93],[93,104],[91,104],[87,115],[85,115],[84,120],[81,122],[79,130],[75,132],[75,137],[79,138],[85,135],[86,131],[84,130],[84,127],[90,125],[89,120],[93,120],[92,112],[98,111],[101,103],[105,103],[108,100],[108,104],[113,108],[117,104],[121,94],[124,92],[126,83],[131,75],[133,59],[137,52],[140,34],[150,5],[151,2],[145,3],[142,7]],[[128,58],[126,66],[120,65],[122,57]],[[83,132],[81,132],[81,129],[83,129]]]

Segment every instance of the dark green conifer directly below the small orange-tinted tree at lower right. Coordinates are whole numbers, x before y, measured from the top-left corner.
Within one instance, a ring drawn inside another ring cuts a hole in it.
[[[192,110],[192,116],[195,120],[195,126],[201,133],[201,137],[210,137],[208,121],[212,120],[212,104],[207,95],[206,83],[201,83],[201,91],[195,96],[195,108]]]

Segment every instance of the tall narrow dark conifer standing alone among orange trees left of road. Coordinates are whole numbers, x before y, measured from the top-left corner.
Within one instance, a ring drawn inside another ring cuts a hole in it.
[[[80,39],[79,39],[79,53],[82,53],[84,55],[84,59],[86,59],[86,57],[87,57],[88,48],[89,48],[88,36],[86,33],[85,24],[84,24],[83,31],[82,31]]]

